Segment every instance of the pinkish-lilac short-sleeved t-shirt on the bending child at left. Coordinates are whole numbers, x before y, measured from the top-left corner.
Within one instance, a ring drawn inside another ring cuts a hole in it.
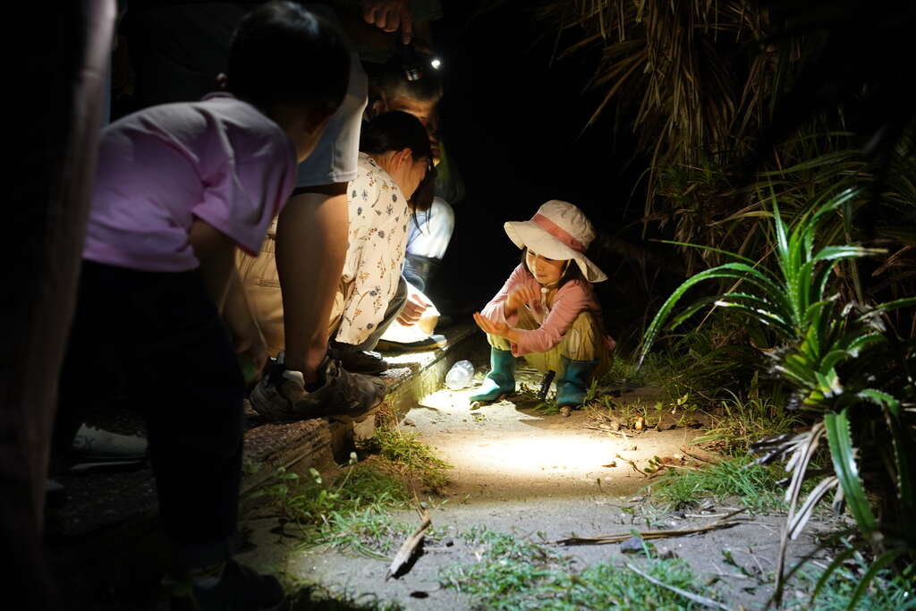
[[[82,256],[145,271],[194,269],[195,217],[256,255],[295,175],[289,137],[228,93],[127,115],[102,132]]]

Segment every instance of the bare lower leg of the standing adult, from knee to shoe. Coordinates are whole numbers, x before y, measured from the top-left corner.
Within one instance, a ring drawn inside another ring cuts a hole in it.
[[[277,222],[277,272],[283,291],[286,365],[307,383],[327,352],[328,322],[344,272],[346,183],[294,194]]]

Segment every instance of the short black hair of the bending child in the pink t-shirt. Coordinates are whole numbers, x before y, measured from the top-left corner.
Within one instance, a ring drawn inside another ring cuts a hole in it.
[[[307,104],[332,115],[346,94],[350,51],[330,21],[274,0],[235,28],[227,67],[230,91],[258,107]]]

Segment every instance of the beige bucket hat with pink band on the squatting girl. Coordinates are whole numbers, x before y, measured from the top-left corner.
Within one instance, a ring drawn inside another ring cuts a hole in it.
[[[572,203],[551,200],[541,205],[530,221],[509,221],[503,226],[519,248],[528,246],[551,259],[573,259],[589,282],[607,279],[605,272],[585,256],[594,240],[594,227]]]

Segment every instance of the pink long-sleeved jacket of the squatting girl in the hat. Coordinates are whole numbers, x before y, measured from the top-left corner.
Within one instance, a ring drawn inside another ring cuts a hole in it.
[[[503,288],[496,293],[496,297],[486,304],[481,314],[492,322],[505,322],[510,327],[515,327],[518,323],[518,313],[506,316],[503,303],[509,292],[526,286],[541,294],[538,280],[525,269],[525,266],[519,265],[506,280]],[[540,322],[540,327],[518,331],[518,344],[512,344],[512,354],[516,356],[547,352],[560,344],[582,311],[589,310],[601,314],[601,307],[594,297],[591,283],[582,280],[564,284],[557,291],[551,308],[547,308],[542,301],[529,302],[524,306],[527,306],[534,319]],[[609,343],[610,339],[605,339],[605,342]]]

